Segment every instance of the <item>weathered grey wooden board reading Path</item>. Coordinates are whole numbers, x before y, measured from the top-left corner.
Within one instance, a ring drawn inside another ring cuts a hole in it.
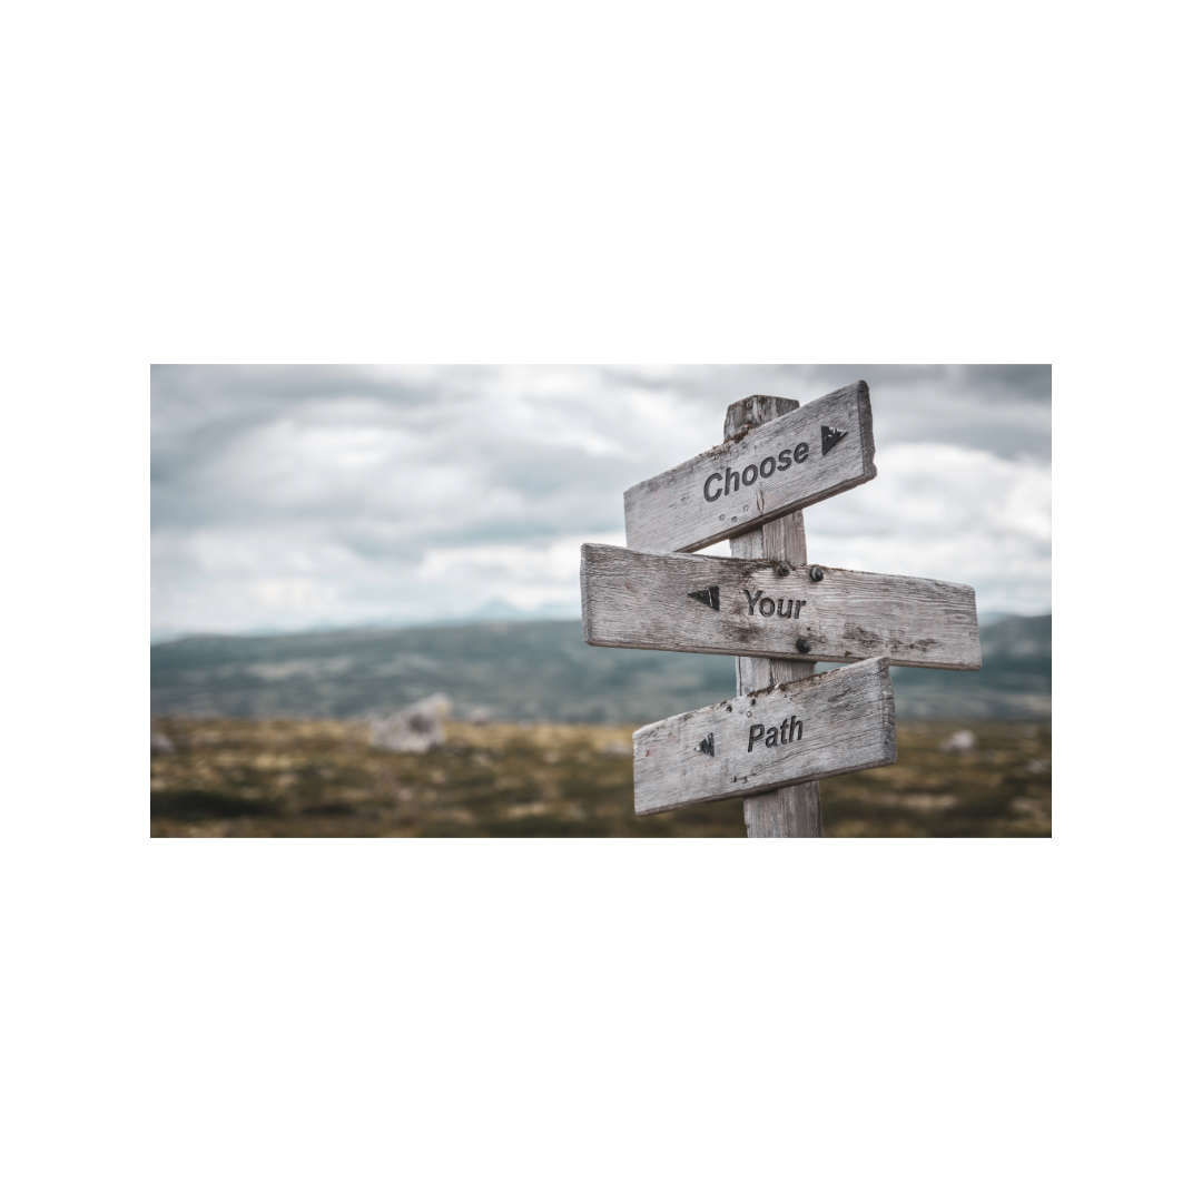
[[[701,750],[707,742],[710,751]],[[882,655],[636,731],[635,813],[779,791],[895,760]]]

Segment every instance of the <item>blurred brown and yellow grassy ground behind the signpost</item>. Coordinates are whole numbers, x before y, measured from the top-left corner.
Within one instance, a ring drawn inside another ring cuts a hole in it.
[[[899,722],[895,764],[822,781],[826,835],[1049,837],[1051,726],[972,722],[977,750],[938,750],[962,725]],[[450,722],[427,755],[373,748],[349,721],[154,728],[175,749],[150,761],[156,837],[746,837],[739,801],[636,819],[630,728]]]

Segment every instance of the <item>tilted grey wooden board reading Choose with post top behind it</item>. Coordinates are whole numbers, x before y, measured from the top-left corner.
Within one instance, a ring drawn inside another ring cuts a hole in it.
[[[727,412],[727,427],[743,433],[629,488],[626,546],[636,551],[700,551],[876,475],[873,410],[863,380],[808,405],[789,405],[784,397],[736,401],[733,416]],[[762,424],[756,426],[756,421]],[[823,427],[846,432],[826,453]],[[793,453],[802,442],[807,450],[796,463]],[[762,475],[769,460],[769,474]],[[707,500],[707,495],[715,499]]]

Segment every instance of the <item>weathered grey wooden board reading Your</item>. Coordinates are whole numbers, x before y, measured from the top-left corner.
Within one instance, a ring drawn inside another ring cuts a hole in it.
[[[903,667],[969,672],[981,667],[972,588],[826,566],[823,578],[815,582],[810,576],[815,565],[804,559],[799,517],[781,519],[785,529],[774,522],[744,536],[756,543],[755,551],[772,545],[793,552],[793,558],[662,555],[584,543],[584,642],[832,664],[888,655],[891,664]],[[785,546],[790,534],[792,545]],[[779,575],[781,564],[789,566],[787,576]],[[799,638],[809,641],[808,653],[797,649]],[[740,692],[775,683],[755,674],[763,670],[739,671],[750,673],[745,680],[738,678]]]

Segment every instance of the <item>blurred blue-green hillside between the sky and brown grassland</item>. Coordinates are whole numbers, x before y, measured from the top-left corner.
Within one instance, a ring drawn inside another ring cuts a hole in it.
[[[1051,614],[983,627],[981,650],[980,672],[894,668],[898,718],[1051,718]],[[154,714],[361,718],[432,692],[459,716],[639,725],[730,697],[734,661],[589,647],[578,621],[203,636],[150,649]]]

